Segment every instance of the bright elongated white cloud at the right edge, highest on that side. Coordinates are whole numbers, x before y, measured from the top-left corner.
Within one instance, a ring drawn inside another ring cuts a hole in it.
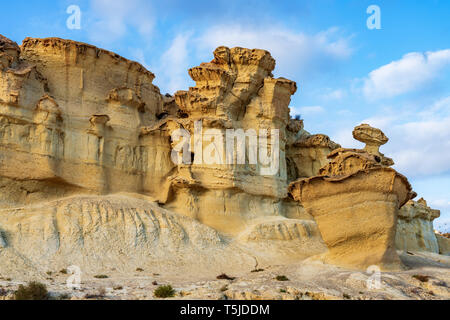
[[[450,65],[450,49],[434,52],[412,52],[369,73],[364,79],[367,98],[395,97],[428,85]]]

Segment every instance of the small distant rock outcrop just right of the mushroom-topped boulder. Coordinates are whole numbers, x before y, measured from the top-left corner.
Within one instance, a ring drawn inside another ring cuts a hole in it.
[[[433,220],[439,216],[439,210],[428,207],[423,198],[417,202],[408,201],[398,212],[395,237],[397,249],[439,253],[439,244],[433,229]]]

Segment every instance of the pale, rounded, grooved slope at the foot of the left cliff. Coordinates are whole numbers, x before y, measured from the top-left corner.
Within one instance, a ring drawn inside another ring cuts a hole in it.
[[[251,269],[255,263],[252,254],[216,230],[126,194],[2,209],[0,234],[0,274],[15,277],[45,275],[70,265],[94,274],[129,273],[138,267],[165,274],[214,274],[228,270],[229,264]]]

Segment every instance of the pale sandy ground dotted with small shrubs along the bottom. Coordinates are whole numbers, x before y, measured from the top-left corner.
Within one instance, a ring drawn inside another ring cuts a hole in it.
[[[287,266],[261,266],[258,272],[228,274],[234,280],[137,270],[134,274],[111,272],[104,279],[82,274],[80,289],[68,288],[69,275],[60,272],[41,282],[47,285],[53,299],[73,300],[156,299],[154,290],[168,284],[176,290],[171,299],[189,300],[450,299],[450,257],[416,252],[401,253],[401,259],[405,270],[382,272],[379,283],[376,273],[340,269],[313,260]],[[287,280],[279,281],[278,276]],[[11,299],[14,290],[29,280],[32,279],[0,278],[0,299]]]

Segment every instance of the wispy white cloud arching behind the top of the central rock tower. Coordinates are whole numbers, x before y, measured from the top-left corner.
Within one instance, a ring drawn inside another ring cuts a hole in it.
[[[340,37],[338,33],[336,28],[306,35],[278,27],[256,29],[241,25],[219,25],[205,32],[180,33],[162,54],[159,66],[154,68],[155,83],[171,93],[187,89],[191,84],[187,70],[194,66],[190,62],[211,60],[212,52],[219,46],[265,49],[276,59],[278,74],[285,77],[298,75],[299,71],[306,74],[307,70],[317,70],[327,62],[346,59],[352,54],[349,38]],[[306,109],[308,113],[318,111],[317,108]]]

